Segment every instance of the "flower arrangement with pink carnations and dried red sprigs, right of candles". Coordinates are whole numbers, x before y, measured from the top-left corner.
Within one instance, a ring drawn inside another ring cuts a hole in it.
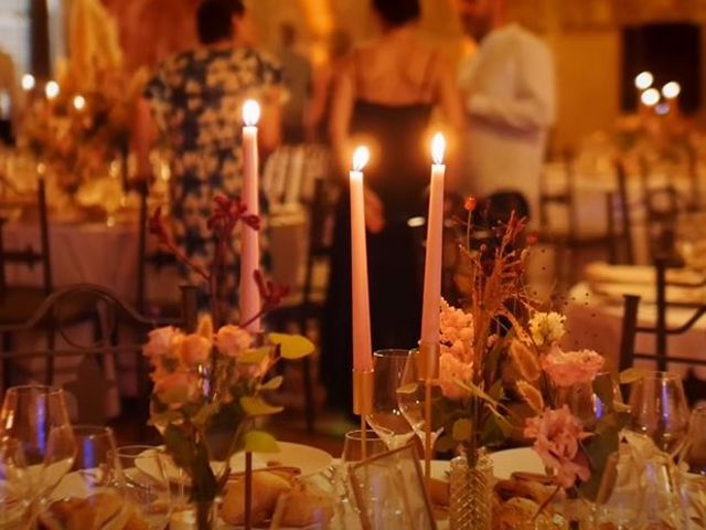
[[[513,212],[473,247],[475,201],[466,209],[457,274],[464,307],[442,301],[440,309],[440,393],[434,407],[435,428],[443,427],[443,435],[437,448],[461,446],[474,467],[479,449],[525,438],[553,469],[557,491],[595,498],[629,420],[624,405],[614,403],[612,380],[597,377],[605,359],[590,350],[563,351],[565,317],[539,311],[528,296],[525,266],[536,237],[523,235],[524,220]],[[567,399],[576,392],[600,399],[597,422],[580,417]]]

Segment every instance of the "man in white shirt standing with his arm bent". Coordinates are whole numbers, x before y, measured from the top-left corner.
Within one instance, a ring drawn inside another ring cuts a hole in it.
[[[520,192],[537,220],[539,173],[555,119],[554,61],[539,38],[506,22],[507,1],[457,0],[466,31],[480,43],[460,68],[469,124],[461,191]]]

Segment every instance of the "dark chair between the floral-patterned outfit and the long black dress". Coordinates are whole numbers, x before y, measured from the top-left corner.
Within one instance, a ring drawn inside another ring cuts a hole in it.
[[[297,288],[289,300],[268,315],[268,321],[275,329],[282,329],[287,325],[296,325],[300,332],[306,333],[310,322],[321,322],[325,301],[325,285],[321,282],[322,266],[325,266],[331,255],[332,220],[335,201],[333,190],[324,179],[317,178],[313,184],[313,195],[309,203],[309,252],[304,265],[302,285]],[[314,381],[311,374],[311,359],[302,361],[304,413],[307,431],[313,433],[314,425]]]

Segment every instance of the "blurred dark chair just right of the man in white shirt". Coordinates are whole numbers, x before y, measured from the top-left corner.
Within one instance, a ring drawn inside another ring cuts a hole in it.
[[[549,190],[544,176],[539,191],[539,239],[555,247],[555,269],[559,282],[571,284],[577,279],[576,262],[580,252],[606,252],[608,262],[612,264],[634,263],[624,166],[620,161],[616,163],[614,190],[607,192],[605,197],[606,231],[581,234],[575,156],[570,150],[564,152],[561,163],[565,176],[563,188]],[[567,223],[563,230],[557,230],[550,218],[552,212],[560,210],[565,212]]]

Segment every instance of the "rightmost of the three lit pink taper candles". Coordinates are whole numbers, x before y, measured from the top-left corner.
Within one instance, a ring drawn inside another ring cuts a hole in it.
[[[420,344],[439,342],[439,306],[441,300],[441,247],[443,236],[443,135],[437,132],[431,141],[431,183],[429,191],[429,215],[427,218],[427,255],[424,269],[424,301],[421,309]],[[436,359],[428,357],[428,372],[435,372]]]

